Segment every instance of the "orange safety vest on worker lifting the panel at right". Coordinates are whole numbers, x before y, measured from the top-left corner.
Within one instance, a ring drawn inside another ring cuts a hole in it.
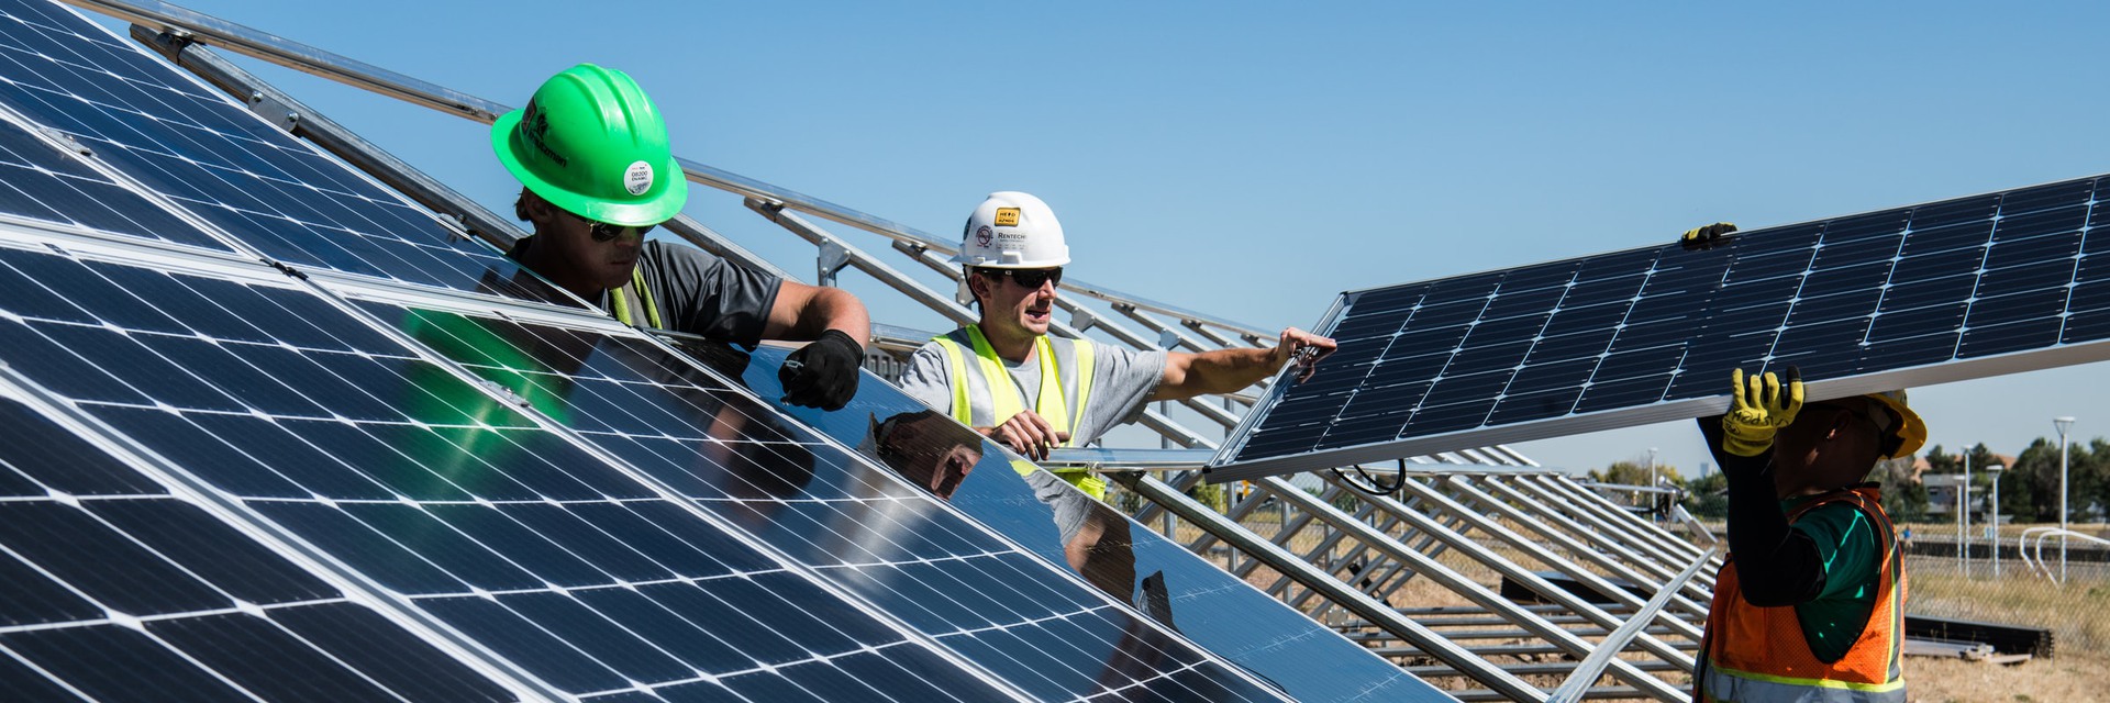
[[[1882,559],[1876,572],[1876,608],[1867,627],[1840,661],[1819,661],[1802,635],[1796,606],[1760,608],[1743,600],[1737,562],[1722,564],[1707,635],[1701,640],[1701,669],[1694,671],[1694,701],[1787,703],[1787,701],[1905,701],[1901,669],[1905,642],[1903,555],[1874,486],[1857,486],[1817,496],[1787,513],[1787,521],[1825,502],[1850,502],[1876,524]]]

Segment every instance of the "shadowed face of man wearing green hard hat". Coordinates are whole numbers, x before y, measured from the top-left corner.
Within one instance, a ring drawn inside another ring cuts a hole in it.
[[[652,230],[593,222],[542,198],[530,205],[530,220],[536,226],[532,268],[582,298],[629,283],[644,234]]]

